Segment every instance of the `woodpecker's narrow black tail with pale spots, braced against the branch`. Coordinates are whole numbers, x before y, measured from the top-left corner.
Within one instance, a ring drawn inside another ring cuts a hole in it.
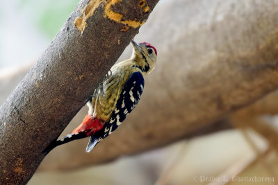
[[[75,132],[74,134],[67,134],[67,136],[64,136],[62,139],[60,140],[56,140],[53,141],[52,143],[50,143],[49,146],[47,146],[47,148],[45,148],[42,153],[44,155],[47,155],[52,149],[56,148],[56,146],[60,146],[63,145],[65,143],[68,143],[70,141],[74,141],[76,139],[83,139],[85,137],[88,137],[86,132]]]

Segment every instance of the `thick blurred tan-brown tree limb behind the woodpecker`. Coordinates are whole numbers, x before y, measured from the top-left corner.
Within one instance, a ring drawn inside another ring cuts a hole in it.
[[[51,152],[41,169],[99,164],[163,146],[277,89],[277,6],[161,2],[136,38],[158,49],[138,107],[92,152],[84,152],[87,139],[69,143]]]

